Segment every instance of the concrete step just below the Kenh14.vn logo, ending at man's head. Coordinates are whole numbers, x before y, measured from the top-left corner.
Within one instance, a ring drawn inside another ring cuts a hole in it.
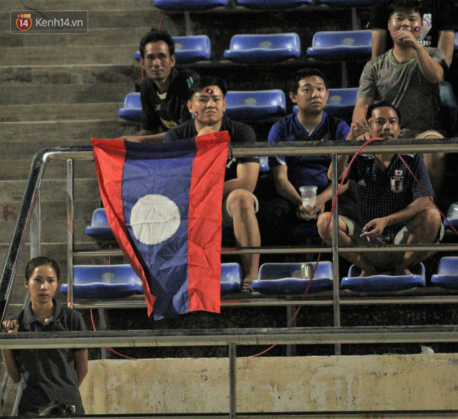
[[[21,36],[21,35],[15,35]],[[33,35],[29,35],[33,36]],[[40,35],[36,35],[40,36]],[[84,35],[81,35],[84,36]],[[0,50],[0,62],[3,65],[82,65],[114,64],[129,65],[134,63],[133,53],[138,49],[138,42],[119,45],[90,45],[56,48],[56,46],[22,46]],[[114,52],[116,51],[116,52]]]

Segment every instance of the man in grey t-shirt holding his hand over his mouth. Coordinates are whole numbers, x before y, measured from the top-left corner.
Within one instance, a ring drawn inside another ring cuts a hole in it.
[[[443,51],[418,42],[422,6],[417,0],[396,0],[389,8],[388,30],[393,49],[369,61],[359,80],[353,121],[374,101],[388,101],[402,114],[400,138],[441,138],[437,131],[439,83],[448,71]],[[439,194],[445,176],[445,155],[424,155],[434,190]]]

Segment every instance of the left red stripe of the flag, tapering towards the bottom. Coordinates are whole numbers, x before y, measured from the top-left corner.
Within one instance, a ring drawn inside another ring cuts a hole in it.
[[[100,194],[108,223],[134,272],[142,280],[148,315],[153,311],[155,296],[149,291],[148,282],[137,256],[128,240],[124,208],[122,204],[122,173],[126,157],[126,146],[122,139],[92,138],[94,162],[99,178]]]

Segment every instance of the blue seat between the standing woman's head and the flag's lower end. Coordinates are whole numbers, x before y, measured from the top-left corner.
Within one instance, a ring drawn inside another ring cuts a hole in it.
[[[73,268],[74,298],[121,298],[143,293],[130,265],[78,265]],[[68,292],[68,284],[60,285]]]

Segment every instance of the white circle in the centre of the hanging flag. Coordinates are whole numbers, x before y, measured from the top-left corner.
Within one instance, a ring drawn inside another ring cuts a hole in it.
[[[135,238],[144,244],[158,244],[169,239],[180,226],[180,210],[163,195],[145,195],[130,212],[130,226]]]

